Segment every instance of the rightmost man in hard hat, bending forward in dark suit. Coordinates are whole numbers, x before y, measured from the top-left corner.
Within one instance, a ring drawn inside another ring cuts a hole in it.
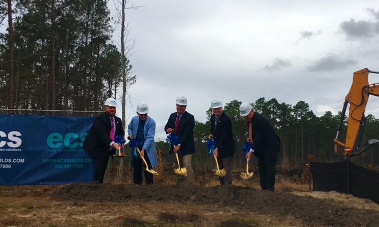
[[[240,105],[240,115],[248,122],[249,140],[252,143],[246,158],[252,154],[259,158],[259,179],[262,190],[275,188],[275,167],[280,152],[280,139],[274,127],[263,115],[254,111],[249,103]]]

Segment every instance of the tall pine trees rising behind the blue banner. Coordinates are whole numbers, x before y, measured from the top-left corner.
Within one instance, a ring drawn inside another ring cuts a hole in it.
[[[1,1],[0,22],[6,16],[1,109],[102,110],[107,97],[135,82],[129,60],[110,42],[116,20],[107,0]]]

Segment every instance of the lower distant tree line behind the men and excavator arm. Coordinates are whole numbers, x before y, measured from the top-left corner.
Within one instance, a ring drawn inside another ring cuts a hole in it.
[[[248,138],[246,121],[240,117],[239,106],[242,102],[233,100],[226,103],[223,111],[232,120],[233,134],[236,142],[236,153],[234,167],[244,168],[244,152],[242,146]],[[300,166],[309,162],[308,155],[313,155],[312,162],[333,162],[334,142],[337,127],[340,122],[340,113],[333,115],[331,111],[317,117],[305,101],[299,101],[295,105],[279,103],[273,98],[266,100],[259,98],[250,103],[254,110],[263,114],[276,129],[281,139],[281,152],[278,157],[278,165],[283,168]],[[193,157],[193,165],[197,170],[208,170],[215,168],[213,159],[209,157],[205,141],[210,134],[210,116],[212,110],[206,111],[207,121],[205,123],[195,122],[194,137],[196,153]],[[379,120],[373,115],[367,116],[364,130],[363,142],[369,139],[379,139]],[[345,141],[347,118],[344,120],[339,139]],[[166,152],[168,146],[164,141],[157,142],[160,150]],[[379,147],[373,146],[367,152],[352,159],[356,164],[367,167],[369,164],[379,165]],[[168,151],[167,151],[168,152]],[[339,154],[343,154],[339,150]],[[167,153],[166,153],[167,154]],[[256,164],[254,164],[256,165]]]

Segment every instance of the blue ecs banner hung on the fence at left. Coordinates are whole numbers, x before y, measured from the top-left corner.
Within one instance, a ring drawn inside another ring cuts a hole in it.
[[[82,145],[94,117],[0,114],[0,185],[90,182]]]

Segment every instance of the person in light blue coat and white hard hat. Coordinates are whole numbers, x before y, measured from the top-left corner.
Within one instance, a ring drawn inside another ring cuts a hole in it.
[[[137,116],[134,116],[128,125],[128,139],[136,140],[139,143],[138,149],[141,151],[141,156],[147,162],[148,169],[154,169],[158,164],[157,155],[155,153],[155,121],[147,115],[149,107],[146,103],[140,102],[137,104]],[[130,163],[133,167],[133,182],[134,184],[142,184],[142,169],[143,162],[139,155],[131,152]],[[153,174],[144,169],[146,185],[153,184]]]

